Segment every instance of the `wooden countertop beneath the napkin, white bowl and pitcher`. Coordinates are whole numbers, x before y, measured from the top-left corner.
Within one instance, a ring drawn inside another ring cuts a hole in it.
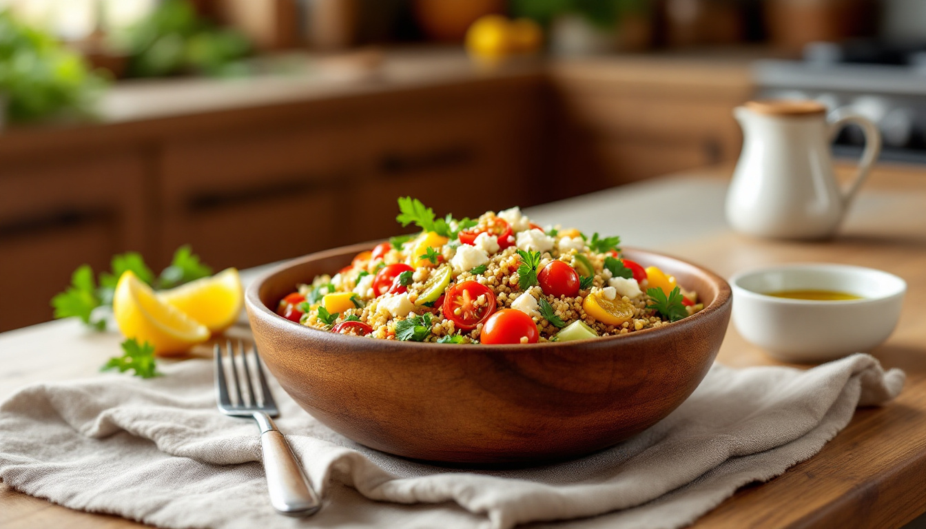
[[[926,510],[926,170],[881,168],[858,196],[842,233],[824,243],[750,239],[732,233],[720,204],[729,169],[703,170],[533,208],[540,221],[613,232],[706,265],[723,276],[792,261],[831,261],[890,271],[908,292],[895,333],[873,354],[907,372],[895,402],[859,409],[820,454],[763,485],[749,485],[695,527],[899,527]],[[659,211],[645,229],[627,208]],[[0,398],[23,384],[93,376],[118,350],[116,334],[92,334],[55,321],[0,334]],[[719,360],[776,364],[731,326]],[[130,527],[136,523],[51,505],[0,485],[0,526]],[[564,527],[569,523],[562,523]],[[582,527],[594,526],[582,521]]]

